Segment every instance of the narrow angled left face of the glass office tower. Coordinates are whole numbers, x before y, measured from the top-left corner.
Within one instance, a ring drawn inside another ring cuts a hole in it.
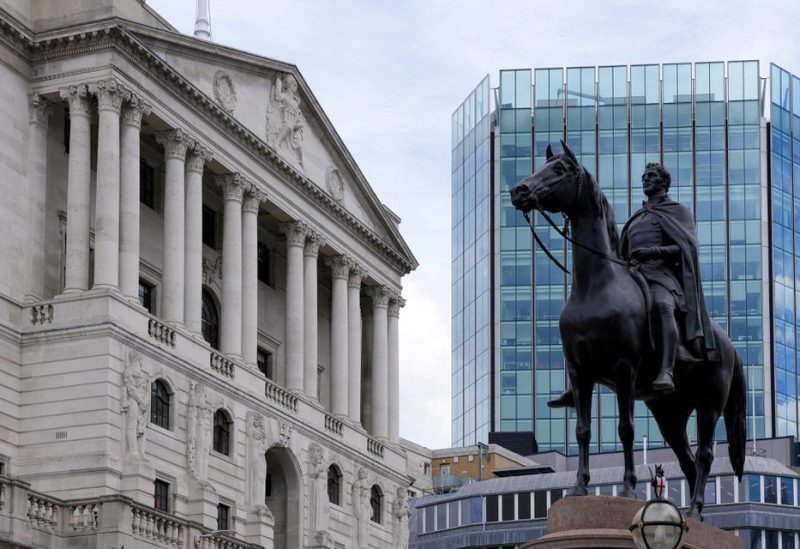
[[[467,446],[488,439],[491,421],[488,75],[453,113],[452,144],[451,438],[454,446]]]

